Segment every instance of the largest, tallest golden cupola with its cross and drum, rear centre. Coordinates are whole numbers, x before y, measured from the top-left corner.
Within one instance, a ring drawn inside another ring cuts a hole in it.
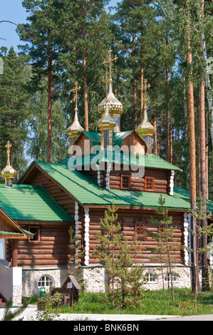
[[[108,61],[104,61],[103,64],[105,66],[109,66],[109,91],[108,96],[106,97],[108,99],[108,110],[111,115],[111,117],[115,120],[115,133],[120,133],[120,115],[123,113],[123,105],[120,103],[120,101],[115,98],[115,95],[113,93],[113,78],[112,78],[112,65],[113,61],[117,61],[118,57],[115,56],[112,58],[112,50],[108,51],[109,57]],[[98,105],[98,111],[101,115],[105,113],[105,105],[106,105],[106,98]]]

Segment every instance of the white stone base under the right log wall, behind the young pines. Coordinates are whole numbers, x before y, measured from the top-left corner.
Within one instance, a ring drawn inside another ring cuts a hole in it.
[[[102,266],[88,266],[81,267],[82,276],[84,279],[85,290],[87,292],[106,292],[106,273],[105,268]],[[162,289],[163,281],[162,281],[162,269],[159,265],[145,265],[144,274],[147,272],[151,272],[156,274],[157,280],[156,282],[147,282],[142,284],[144,289]],[[188,266],[177,265],[172,267],[172,273],[176,274],[177,282],[173,282],[174,287],[178,288],[189,288],[191,287],[191,269]],[[163,268],[164,279],[167,274],[167,268]],[[165,282],[165,289],[168,287],[168,282]]]

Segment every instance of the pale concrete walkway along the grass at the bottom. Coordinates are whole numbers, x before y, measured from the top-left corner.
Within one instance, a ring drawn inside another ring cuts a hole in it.
[[[11,311],[15,311],[12,308]],[[4,308],[0,308],[0,321],[4,317]],[[37,306],[29,305],[14,321],[36,321]],[[213,321],[213,314],[196,316],[139,315],[139,314],[60,314],[59,321]]]

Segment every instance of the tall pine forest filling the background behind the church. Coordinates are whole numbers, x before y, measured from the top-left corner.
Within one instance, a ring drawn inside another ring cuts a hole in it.
[[[153,153],[183,170],[175,182],[186,190],[190,183],[192,190],[195,171],[197,195],[205,176],[204,194],[213,200],[212,1],[123,0],[111,11],[109,2],[24,0],[25,23],[0,22],[1,28],[17,25],[21,39],[18,52],[0,50],[0,167],[6,165],[7,140],[19,176],[32,160],[58,163],[68,156],[76,81],[80,125],[98,131],[103,61],[112,48],[118,56],[113,91],[124,108],[121,130],[142,121],[146,79]]]

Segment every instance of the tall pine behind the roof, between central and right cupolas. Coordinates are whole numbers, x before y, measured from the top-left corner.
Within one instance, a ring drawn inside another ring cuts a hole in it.
[[[114,16],[116,26],[115,43],[120,55],[126,58],[129,68],[131,109],[133,110],[133,129],[137,129],[137,92],[140,86],[140,122],[143,116],[143,82],[145,68],[155,56],[155,43],[152,34],[155,31],[155,6],[152,1],[123,0],[118,3]],[[140,80],[138,81],[138,78]]]

